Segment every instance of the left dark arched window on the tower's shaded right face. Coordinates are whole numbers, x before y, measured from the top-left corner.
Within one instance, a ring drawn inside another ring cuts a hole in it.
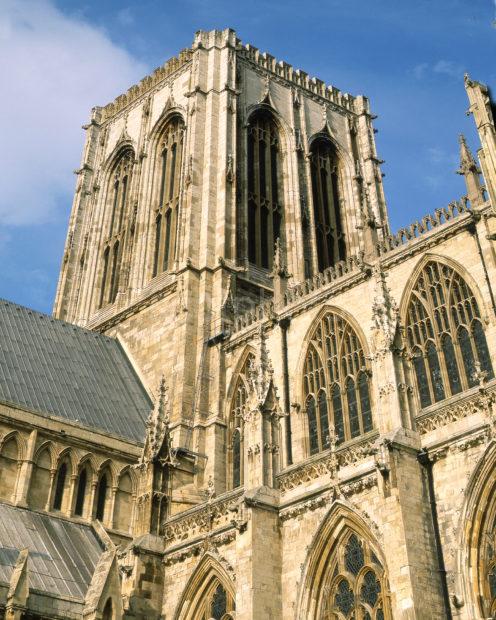
[[[248,260],[272,268],[276,239],[283,236],[283,191],[277,126],[266,111],[248,123]]]

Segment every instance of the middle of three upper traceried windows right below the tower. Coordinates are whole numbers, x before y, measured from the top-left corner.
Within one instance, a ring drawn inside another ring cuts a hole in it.
[[[343,317],[327,312],[320,319],[303,372],[310,454],[330,447],[331,427],[338,442],[372,430],[369,370],[358,336]]]

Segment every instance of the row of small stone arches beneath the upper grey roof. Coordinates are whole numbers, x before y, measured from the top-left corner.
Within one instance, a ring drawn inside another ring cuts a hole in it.
[[[15,501],[24,462],[17,432],[0,444],[0,498]],[[58,456],[50,443],[35,454],[27,505],[34,510],[61,513],[129,533],[133,525],[136,480],[129,466],[119,472],[109,461],[97,464],[85,456],[79,461],[70,449]]]

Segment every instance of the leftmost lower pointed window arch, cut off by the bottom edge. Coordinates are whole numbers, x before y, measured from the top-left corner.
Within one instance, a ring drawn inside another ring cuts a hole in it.
[[[225,565],[223,565],[225,564]],[[229,569],[229,572],[228,572]],[[175,620],[223,620],[226,614],[235,610],[236,590],[227,562],[206,553],[191,575],[184,589]],[[222,588],[222,608],[213,611],[216,593]]]

